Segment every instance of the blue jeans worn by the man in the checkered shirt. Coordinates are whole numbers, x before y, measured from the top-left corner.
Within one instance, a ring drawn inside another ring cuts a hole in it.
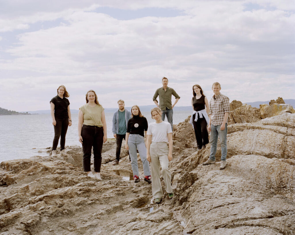
[[[217,140],[219,136],[220,145],[221,145],[221,161],[226,160],[227,155],[227,146],[226,146],[226,134],[227,134],[227,124],[225,124],[224,130],[220,130],[220,125],[214,126],[211,125],[211,136],[210,136],[210,156],[209,158],[212,161],[215,161],[215,154],[217,150]]]

